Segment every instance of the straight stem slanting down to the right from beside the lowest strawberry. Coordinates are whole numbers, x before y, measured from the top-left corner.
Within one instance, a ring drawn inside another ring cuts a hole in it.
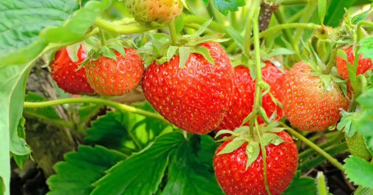
[[[316,144],[314,144],[313,142],[309,141],[307,138],[305,138],[303,135],[301,135],[300,133],[296,132],[294,129],[291,129],[289,126],[285,125],[285,123],[282,123],[282,122],[279,122],[283,127],[287,128],[287,131],[297,137],[298,139],[300,139],[301,141],[303,141],[305,144],[307,144],[309,147],[311,147],[313,150],[315,150],[316,152],[318,152],[320,155],[322,155],[323,157],[326,158],[326,160],[328,160],[330,163],[332,163],[335,167],[337,167],[339,170],[341,170],[342,172],[344,171],[343,169],[343,166],[341,163],[338,162],[338,160],[336,160],[335,158],[333,158],[330,154],[328,154],[327,152],[325,152],[323,149],[321,149],[319,146],[317,146]]]

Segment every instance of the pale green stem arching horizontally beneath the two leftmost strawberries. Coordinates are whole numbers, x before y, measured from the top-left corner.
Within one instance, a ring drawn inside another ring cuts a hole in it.
[[[94,103],[94,104],[104,104],[107,106],[114,107],[121,111],[128,111],[135,114],[140,114],[143,116],[147,116],[153,119],[161,120],[163,122],[167,122],[162,116],[156,113],[151,113],[149,111],[141,110],[132,106],[128,106],[125,104],[116,103],[109,100],[102,100],[97,98],[66,98],[60,100],[51,100],[51,101],[44,101],[44,102],[24,102],[23,107],[25,108],[39,108],[39,107],[48,107],[48,106],[56,106],[60,104],[77,104],[77,103]]]

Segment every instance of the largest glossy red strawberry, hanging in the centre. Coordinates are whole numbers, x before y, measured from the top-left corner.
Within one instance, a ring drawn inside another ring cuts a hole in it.
[[[202,55],[191,53],[184,69],[179,56],[145,70],[142,91],[165,119],[189,133],[208,133],[219,125],[232,102],[233,67],[218,43],[206,47],[214,65]]]

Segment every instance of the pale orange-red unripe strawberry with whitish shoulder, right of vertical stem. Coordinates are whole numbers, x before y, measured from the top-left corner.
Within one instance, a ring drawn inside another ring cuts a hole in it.
[[[304,62],[289,70],[282,85],[282,104],[286,118],[295,127],[323,130],[339,120],[339,108],[346,110],[348,100],[334,81],[327,91],[321,78],[312,76],[310,70]]]

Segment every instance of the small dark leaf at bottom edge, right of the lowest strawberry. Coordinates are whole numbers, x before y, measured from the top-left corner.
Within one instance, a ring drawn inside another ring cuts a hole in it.
[[[315,195],[316,182],[311,177],[301,177],[301,172],[295,172],[293,179],[291,180],[288,188],[282,193],[282,195]]]

